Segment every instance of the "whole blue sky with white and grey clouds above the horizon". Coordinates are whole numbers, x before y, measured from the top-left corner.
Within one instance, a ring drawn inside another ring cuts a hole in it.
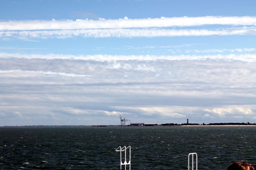
[[[0,126],[256,123],[255,0],[0,0]]]

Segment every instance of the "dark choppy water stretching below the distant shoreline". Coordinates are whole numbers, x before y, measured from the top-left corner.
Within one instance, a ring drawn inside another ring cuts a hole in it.
[[[130,145],[132,170],[187,170],[192,152],[199,170],[225,170],[256,163],[255,141],[256,126],[0,127],[0,169],[119,170]]]

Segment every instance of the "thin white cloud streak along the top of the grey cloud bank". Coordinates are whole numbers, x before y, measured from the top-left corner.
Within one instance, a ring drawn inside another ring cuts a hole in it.
[[[237,50],[237,49],[236,49]],[[245,50],[246,51],[246,50]],[[41,58],[41,59],[66,59],[66,60],[93,60],[93,61],[118,61],[118,60],[239,60],[243,62],[256,62],[256,54],[216,54],[216,55],[72,55],[72,54],[19,54],[0,53],[0,58]]]

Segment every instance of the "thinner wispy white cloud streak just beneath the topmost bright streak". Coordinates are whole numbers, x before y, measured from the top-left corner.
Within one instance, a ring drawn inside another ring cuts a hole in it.
[[[175,36],[211,36],[211,35],[256,35],[256,27],[223,29],[79,29],[79,30],[45,30],[45,31],[0,31],[2,38],[106,38],[106,37],[175,37]]]

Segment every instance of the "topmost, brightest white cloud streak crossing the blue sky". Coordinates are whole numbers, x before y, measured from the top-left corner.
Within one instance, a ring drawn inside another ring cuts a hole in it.
[[[25,20],[0,22],[0,30],[72,30],[97,28],[148,28],[148,27],[186,27],[200,25],[254,25],[256,17],[252,16],[203,16],[203,17],[172,17],[155,19],[77,19],[72,20]]]

